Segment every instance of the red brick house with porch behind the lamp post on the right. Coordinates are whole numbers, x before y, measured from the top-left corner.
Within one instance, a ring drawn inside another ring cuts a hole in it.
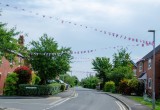
[[[144,81],[145,93],[152,95],[153,50],[137,62],[136,75]],[[160,45],[155,48],[155,95],[160,97]]]

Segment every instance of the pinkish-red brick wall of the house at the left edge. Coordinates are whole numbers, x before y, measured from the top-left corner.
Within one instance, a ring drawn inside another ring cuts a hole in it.
[[[7,77],[7,74],[9,72],[13,72],[15,68],[17,68],[19,65],[13,65],[13,67],[10,66],[10,62],[7,61],[5,58],[2,58],[2,64],[0,65],[0,94],[3,93],[3,87],[5,83],[5,79]]]

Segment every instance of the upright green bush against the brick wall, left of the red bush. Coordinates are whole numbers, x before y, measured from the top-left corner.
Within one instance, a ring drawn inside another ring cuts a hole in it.
[[[11,96],[17,94],[18,75],[16,73],[9,73],[4,87],[4,95]]]

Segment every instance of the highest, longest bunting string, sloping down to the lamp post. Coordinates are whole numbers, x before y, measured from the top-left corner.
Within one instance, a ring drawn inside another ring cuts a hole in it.
[[[0,3],[0,5],[3,5],[3,4]],[[146,40],[142,40],[142,39],[138,39],[138,38],[127,37],[125,35],[121,35],[121,34],[118,34],[118,33],[106,31],[104,29],[98,29],[96,27],[82,25],[82,24],[78,24],[78,23],[75,23],[75,22],[72,22],[72,21],[60,19],[59,17],[47,16],[47,15],[44,15],[44,14],[40,14],[38,12],[28,11],[28,10],[26,10],[24,8],[20,8],[20,7],[17,7],[17,6],[11,6],[9,4],[4,4],[4,6],[11,7],[13,9],[15,9],[15,10],[20,10],[20,11],[32,13],[32,14],[34,14],[36,16],[41,16],[42,18],[54,19],[54,20],[60,22],[61,24],[71,24],[71,25],[74,25],[74,26],[83,27],[85,29],[92,29],[92,30],[94,30],[96,32],[100,32],[100,33],[103,33],[104,35],[111,36],[111,37],[114,37],[114,38],[120,38],[120,39],[123,39],[123,40],[131,41],[131,42],[135,42],[135,43],[140,43],[140,44],[143,44],[143,45],[146,45],[146,46],[155,44],[153,41],[146,41]]]

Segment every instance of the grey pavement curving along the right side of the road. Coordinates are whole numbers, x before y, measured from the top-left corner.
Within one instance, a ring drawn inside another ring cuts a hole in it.
[[[128,110],[151,110],[147,106],[129,99],[128,96],[121,95],[121,94],[113,94],[113,93],[107,93],[107,94],[121,101],[123,104],[125,104]]]

